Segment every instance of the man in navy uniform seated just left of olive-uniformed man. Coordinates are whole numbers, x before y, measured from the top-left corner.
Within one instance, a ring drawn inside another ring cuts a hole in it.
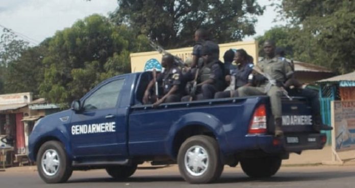
[[[236,89],[242,86],[251,86],[249,75],[251,74],[254,65],[252,62],[249,62],[249,55],[243,49],[237,50],[234,54],[235,56],[233,60],[237,63],[237,66],[232,67],[230,74],[225,76],[225,80],[232,80],[231,84],[234,85],[230,85],[224,91],[217,92],[215,94],[215,99],[238,97],[238,93],[235,91]]]

